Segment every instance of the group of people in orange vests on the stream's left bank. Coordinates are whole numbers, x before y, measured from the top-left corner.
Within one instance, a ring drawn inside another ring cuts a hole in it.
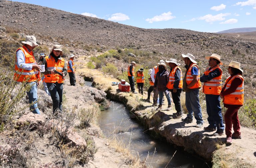
[[[55,44],[48,56],[44,53],[39,54],[39,63],[36,62],[33,49],[38,46],[36,38],[34,36],[26,36],[26,40],[22,42],[24,45],[16,50],[16,63],[14,80],[18,82],[26,82],[31,86],[27,91],[30,110],[34,114],[40,114],[37,107],[37,87],[39,81],[42,79],[44,85],[44,91],[51,96],[53,101],[53,113],[57,109],[62,111],[62,95],[63,95],[63,83],[64,77],[69,73],[70,85],[75,86],[75,66],[74,55],[69,56],[68,65],[64,58],[62,58],[61,45]],[[45,72],[39,65],[45,66]]]

